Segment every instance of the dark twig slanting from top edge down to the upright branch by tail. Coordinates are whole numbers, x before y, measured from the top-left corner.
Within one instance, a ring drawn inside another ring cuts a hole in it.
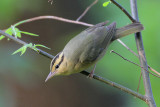
[[[132,22],[136,22],[136,20],[127,12],[125,8],[123,8],[118,2],[115,0],[110,0],[113,4],[115,4],[118,8],[120,8]]]

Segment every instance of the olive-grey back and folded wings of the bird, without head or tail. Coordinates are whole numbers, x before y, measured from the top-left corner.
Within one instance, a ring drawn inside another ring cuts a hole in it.
[[[63,52],[74,63],[92,64],[100,59],[116,32],[116,23],[104,26],[100,23],[86,29],[71,39]]]

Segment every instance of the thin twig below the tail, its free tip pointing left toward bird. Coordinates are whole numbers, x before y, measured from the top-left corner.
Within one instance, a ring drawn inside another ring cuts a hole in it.
[[[120,56],[122,59],[124,59],[124,60],[126,60],[126,61],[128,61],[128,62],[130,62],[130,63],[132,63],[132,64],[134,64],[134,65],[136,65],[136,66],[141,67],[142,69],[144,69],[144,70],[147,71],[148,73],[152,74],[153,76],[156,76],[156,77],[160,78],[160,76],[155,75],[155,74],[153,74],[152,72],[149,72],[146,68],[138,65],[137,63],[135,63],[135,62],[133,62],[133,61],[130,61],[130,60],[126,59],[125,57],[123,57],[122,55],[118,54],[117,52],[111,50],[110,53],[112,53],[112,52],[115,53],[116,55]]]

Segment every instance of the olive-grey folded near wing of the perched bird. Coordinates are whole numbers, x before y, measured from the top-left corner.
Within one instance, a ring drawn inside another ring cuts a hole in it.
[[[100,59],[109,46],[111,39],[115,36],[116,23],[109,26],[97,27],[90,34],[89,43],[85,44],[84,51],[80,56],[82,63],[93,63]]]

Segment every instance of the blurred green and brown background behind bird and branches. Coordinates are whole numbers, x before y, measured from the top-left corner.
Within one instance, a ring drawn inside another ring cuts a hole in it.
[[[130,12],[129,0],[117,1]],[[53,5],[50,5],[47,0],[0,0],[0,29],[41,15],[75,20],[92,2],[93,0],[54,0]],[[104,8],[103,2],[105,0],[100,0],[81,21],[92,24],[106,20],[115,21],[117,27],[131,23],[116,6],[110,4]],[[156,70],[160,70],[159,4],[159,0],[138,0],[140,21],[145,27],[142,35],[146,57],[148,64]],[[40,35],[23,35],[22,40],[50,47],[51,50],[43,50],[56,55],[72,37],[87,27],[45,19],[26,23],[18,28]],[[122,41],[136,52],[134,35],[124,37]],[[13,41],[0,41],[0,107],[147,107],[145,102],[81,74],[58,76],[45,83],[50,60],[30,49],[22,56],[11,55],[20,47],[21,45]],[[96,74],[136,91],[140,68],[115,54],[110,54],[110,50],[139,63],[138,58],[115,41],[97,64]],[[150,77],[158,107],[160,80],[154,76]],[[144,94],[142,81],[140,93]]]

